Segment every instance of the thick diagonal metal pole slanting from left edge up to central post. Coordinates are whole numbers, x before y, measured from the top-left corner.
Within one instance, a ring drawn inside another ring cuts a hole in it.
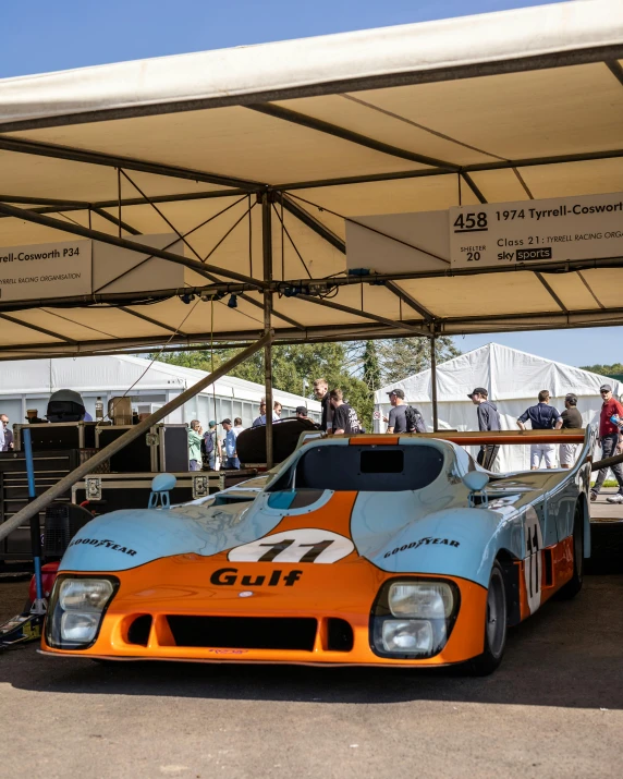
[[[158,422],[168,416],[172,411],[175,411],[175,409],[179,409],[180,406],[184,405],[186,401],[191,400],[191,398],[194,398],[203,389],[213,384],[222,376],[225,376],[232,368],[235,368],[236,365],[244,362],[247,357],[251,357],[267,343],[270,343],[271,339],[272,332],[269,330],[259,339],[259,341],[252,343],[251,346],[247,346],[244,351],[240,352],[240,354],[236,354],[231,360],[228,360],[227,363],[223,363],[215,372],[208,374],[207,376],[204,376],[204,378],[197,381],[196,385],[193,385],[187,390],[173,398],[173,400],[170,400],[161,409],[158,409],[158,411],[156,411],[154,414],[150,414],[146,419],[139,422],[138,425],[134,425],[133,427],[131,427],[117,440],[112,441],[112,443],[109,443],[108,447],[100,449],[97,454],[90,458],[90,460],[86,460],[84,463],[78,465],[75,471],[69,473],[60,482],[57,482],[57,484],[47,489],[38,498],[35,498],[32,503],[28,503],[16,514],[14,514],[14,516],[12,516],[10,520],[3,522],[2,525],[0,525],[0,540],[7,538],[7,536],[10,535],[14,530],[20,527],[20,525],[27,524],[30,518],[38,514],[39,511],[49,506],[52,500],[59,498],[61,495],[64,495],[69,489],[73,487],[76,482],[80,482],[89,473],[94,473],[95,468],[98,465],[101,465],[101,463],[109,460],[113,454],[121,451],[121,449],[126,447],[135,438],[138,438],[139,436],[143,436],[148,433],[149,428],[152,425],[156,425]]]

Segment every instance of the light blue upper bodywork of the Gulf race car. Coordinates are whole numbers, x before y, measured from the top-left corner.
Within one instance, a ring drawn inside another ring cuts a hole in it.
[[[329,438],[308,446],[347,442]],[[423,489],[357,494],[351,538],[357,552],[383,571],[459,576],[486,587],[502,550],[517,560],[526,558],[526,534],[535,532],[535,522],[543,547],[573,534],[578,500],[585,503],[585,527],[588,524],[590,465],[584,454],[570,471],[491,475],[488,506],[471,507],[462,477],[473,463],[463,449],[437,439],[404,437],[400,443],[435,446],[444,461],[440,475]],[[245,483],[171,510],[117,511],[96,518],[76,534],[60,570],[114,572],[175,555],[209,557],[262,538],[284,516],[297,516],[301,527],[314,527],[314,512],[331,501],[331,490],[297,509],[290,508],[296,490],[270,491],[270,484],[295,467],[305,450],[306,446],[297,450],[274,476],[251,480],[248,489]],[[588,557],[589,536],[586,539]]]

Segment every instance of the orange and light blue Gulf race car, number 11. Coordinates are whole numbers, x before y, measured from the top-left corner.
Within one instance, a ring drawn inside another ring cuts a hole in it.
[[[489,673],[509,625],[582,586],[594,435],[571,470],[515,474],[482,471],[461,434],[315,437],[210,498],[96,518],[42,649]],[[155,482],[157,498],[174,479]]]

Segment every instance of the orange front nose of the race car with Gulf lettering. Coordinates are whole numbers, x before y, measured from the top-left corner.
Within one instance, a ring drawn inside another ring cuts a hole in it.
[[[438,576],[436,579],[453,581],[461,596],[456,621],[445,646],[426,659],[377,655],[370,647],[372,604],[387,580],[403,576],[381,571],[359,557],[337,564],[296,567],[232,563],[213,557],[181,555],[114,575],[120,587],[94,644],[86,649],[57,649],[44,637],[45,653],[119,660],[440,666],[468,660],[484,648],[487,591],[466,580]],[[404,579],[417,579],[417,574],[406,574]],[[248,593],[252,595],[241,597]],[[148,635],[143,644],[132,643],[131,625],[142,616],[151,618]],[[313,647],[307,649],[180,646],[168,616],[312,618],[317,621],[317,628]],[[331,619],[344,620],[351,625],[351,650],[330,647]]]

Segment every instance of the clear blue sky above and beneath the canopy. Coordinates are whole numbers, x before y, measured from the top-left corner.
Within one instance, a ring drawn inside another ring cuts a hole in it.
[[[559,0],[562,1],[562,0]],[[538,0],[30,0],[3,3],[0,77],[488,13]],[[620,328],[467,336],[570,365],[623,360]]]

